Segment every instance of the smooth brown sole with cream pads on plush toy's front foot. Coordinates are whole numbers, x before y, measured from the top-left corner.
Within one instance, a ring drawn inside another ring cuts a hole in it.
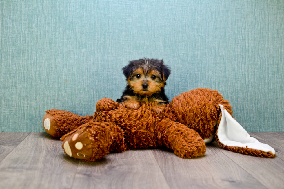
[[[79,129],[67,136],[62,147],[67,155],[77,159],[89,159],[93,155],[88,131],[85,129]]]

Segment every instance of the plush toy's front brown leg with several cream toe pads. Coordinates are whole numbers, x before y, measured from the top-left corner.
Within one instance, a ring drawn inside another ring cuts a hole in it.
[[[122,129],[108,122],[88,122],[61,140],[66,154],[89,162],[101,159],[111,151],[126,150]]]

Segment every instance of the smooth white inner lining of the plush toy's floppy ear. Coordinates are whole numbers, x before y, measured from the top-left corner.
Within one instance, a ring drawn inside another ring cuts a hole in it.
[[[250,137],[249,133],[247,133],[247,131],[232,118],[227,110],[224,110],[223,105],[219,104],[219,106],[222,116],[218,126],[217,136],[222,144],[225,146],[251,148],[275,154],[275,150],[271,146]]]

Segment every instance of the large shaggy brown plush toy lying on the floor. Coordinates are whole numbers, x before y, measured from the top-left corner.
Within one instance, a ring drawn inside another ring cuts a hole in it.
[[[94,115],[85,117],[62,110],[48,110],[43,127],[61,137],[65,153],[85,161],[110,152],[165,146],[182,158],[204,155],[205,142],[213,138],[226,150],[259,157],[275,151],[258,142],[232,118],[231,105],[218,91],[195,89],[176,96],[158,114],[151,103],[128,109],[111,99],[96,104]]]

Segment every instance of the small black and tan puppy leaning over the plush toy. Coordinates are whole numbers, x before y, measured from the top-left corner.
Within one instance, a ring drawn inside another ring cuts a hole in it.
[[[138,109],[139,102],[150,102],[154,105],[154,111],[160,113],[169,103],[164,86],[170,73],[163,60],[144,58],[130,61],[123,67],[127,86],[116,102],[130,109]]]

